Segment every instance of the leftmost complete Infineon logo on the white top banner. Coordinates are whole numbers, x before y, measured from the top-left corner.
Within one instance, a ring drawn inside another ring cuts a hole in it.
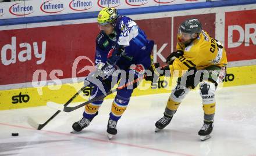
[[[9,12],[15,16],[24,16],[33,13],[33,6],[24,6],[23,3],[16,3],[10,6]]]

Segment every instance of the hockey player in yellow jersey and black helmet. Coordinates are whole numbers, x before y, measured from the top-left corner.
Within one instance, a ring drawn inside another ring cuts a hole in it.
[[[222,43],[202,30],[200,21],[195,18],[187,19],[180,25],[177,40],[176,52],[167,57],[168,65],[161,69],[165,76],[172,75],[173,71],[179,71],[180,75],[166,104],[164,116],[155,123],[155,132],[170,123],[187,93],[200,84],[204,124],[198,135],[205,140],[211,137],[214,127],[215,91],[225,78],[226,52]],[[186,72],[182,74],[184,70]]]

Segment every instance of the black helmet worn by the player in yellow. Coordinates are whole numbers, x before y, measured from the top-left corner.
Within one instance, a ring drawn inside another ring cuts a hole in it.
[[[202,31],[202,24],[198,19],[187,19],[182,24],[180,24],[180,31],[189,34],[200,33]]]

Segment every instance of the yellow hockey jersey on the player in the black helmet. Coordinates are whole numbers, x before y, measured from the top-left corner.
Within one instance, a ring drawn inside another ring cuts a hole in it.
[[[173,70],[188,70],[191,67],[201,70],[212,65],[225,67],[227,64],[226,51],[222,43],[212,38],[204,30],[190,45],[185,46],[178,42],[176,49],[183,50],[184,55],[173,61],[173,64],[170,65],[171,72]]]

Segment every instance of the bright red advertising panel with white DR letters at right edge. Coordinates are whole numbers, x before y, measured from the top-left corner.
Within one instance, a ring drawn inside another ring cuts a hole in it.
[[[225,13],[228,61],[256,59],[256,10]]]

